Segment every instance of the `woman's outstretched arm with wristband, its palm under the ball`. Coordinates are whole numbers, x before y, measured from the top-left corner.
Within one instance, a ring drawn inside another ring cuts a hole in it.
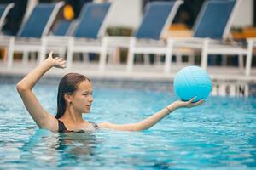
[[[201,105],[203,103],[203,100],[200,100],[198,102],[192,103],[193,99],[190,99],[189,101],[183,102],[180,100],[177,100],[173,102],[171,105],[166,106],[165,109],[162,109],[161,111],[156,112],[153,116],[149,116],[148,118],[144,119],[141,122],[137,123],[131,123],[131,124],[113,124],[110,122],[102,122],[98,123],[98,126],[100,128],[109,128],[113,130],[119,130],[119,131],[142,131],[146,130],[150,127],[153,127],[157,122],[160,122],[164,117],[168,116],[172,111],[177,110],[181,107],[193,107],[195,105]]]

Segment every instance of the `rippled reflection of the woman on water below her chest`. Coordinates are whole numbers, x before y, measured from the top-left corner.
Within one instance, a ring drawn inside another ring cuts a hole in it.
[[[100,144],[94,133],[52,133],[38,129],[20,147],[22,159],[36,159],[55,165],[87,160],[94,155],[96,144]]]

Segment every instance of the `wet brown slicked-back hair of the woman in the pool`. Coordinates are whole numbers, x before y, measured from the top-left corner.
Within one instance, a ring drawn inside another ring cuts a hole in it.
[[[61,78],[58,88],[57,114],[55,118],[61,118],[61,116],[63,116],[64,112],[66,111],[67,105],[64,99],[64,95],[73,94],[79,87],[79,84],[86,80],[90,82],[89,78],[79,73],[68,73],[67,75]]]

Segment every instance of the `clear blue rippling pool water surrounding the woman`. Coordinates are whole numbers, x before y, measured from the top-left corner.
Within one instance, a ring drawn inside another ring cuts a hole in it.
[[[143,132],[51,133],[32,121],[15,91],[0,84],[0,168],[3,169],[255,169],[256,99],[209,97],[174,111]],[[55,114],[57,86],[34,90]],[[84,118],[137,122],[176,97],[169,91],[99,88]]]

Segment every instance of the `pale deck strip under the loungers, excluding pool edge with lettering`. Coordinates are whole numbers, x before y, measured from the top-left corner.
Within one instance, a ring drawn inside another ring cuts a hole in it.
[[[24,76],[32,71],[38,64],[29,62],[22,64],[14,63],[11,69],[7,68],[6,63],[0,62],[0,75],[19,75]],[[171,81],[177,71],[187,66],[185,64],[173,64],[169,74],[163,73],[163,65],[135,65],[133,71],[126,72],[126,65],[108,65],[105,71],[99,71],[96,63],[85,64],[81,62],[73,63],[72,69],[52,69],[46,75],[61,77],[67,72],[79,72],[96,79],[117,79],[117,80],[136,80],[136,81]],[[256,84],[256,69],[252,70],[251,76],[246,77],[244,72],[238,67],[216,67],[210,66],[207,72],[212,77],[213,82],[247,82]]]

